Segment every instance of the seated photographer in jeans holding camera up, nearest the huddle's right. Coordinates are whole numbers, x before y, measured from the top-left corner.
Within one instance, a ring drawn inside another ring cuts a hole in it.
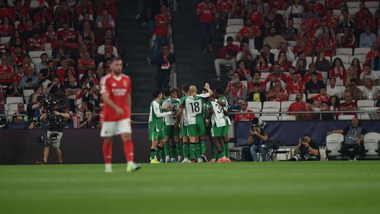
[[[259,161],[258,152],[261,153],[262,161],[267,161],[268,132],[264,126],[258,124],[253,125],[250,132],[251,135],[248,137],[248,144],[250,145],[249,150],[251,151],[253,161]]]

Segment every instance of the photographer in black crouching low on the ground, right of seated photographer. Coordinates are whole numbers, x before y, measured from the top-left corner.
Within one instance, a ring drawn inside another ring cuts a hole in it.
[[[289,160],[320,160],[319,147],[315,141],[312,141],[309,134],[304,134],[298,140],[298,146],[293,151],[294,156]]]

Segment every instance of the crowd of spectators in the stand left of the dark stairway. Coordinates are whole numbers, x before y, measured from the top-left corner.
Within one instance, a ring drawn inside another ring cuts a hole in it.
[[[117,18],[115,0],[0,0],[0,114],[33,128],[45,94],[80,116],[80,127],[96,127],[99,81],[122,53]]]

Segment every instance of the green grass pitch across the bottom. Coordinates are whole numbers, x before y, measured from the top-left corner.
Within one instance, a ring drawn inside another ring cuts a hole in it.
[[[379,213],[379,161],[0,166],[0,213]]]

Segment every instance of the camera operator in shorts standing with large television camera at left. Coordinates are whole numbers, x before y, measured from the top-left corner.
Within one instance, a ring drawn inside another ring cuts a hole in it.
[[[44,160],[42,162],[37,161],[37,164],[48,163],[50,147],[56,149],[58,163],[62,164],[62,152],[61,149],[59,149],[59,146],[61,144],[63,128],[67,126],[66,121],[70,118],[70,115],[67,112],[64,112],[56,101],[46,99],[42,101],[42,106],[44,106],[46,113],[39,117],[39,121],[46,123],[48,131],[43,139],[45,146]]]

